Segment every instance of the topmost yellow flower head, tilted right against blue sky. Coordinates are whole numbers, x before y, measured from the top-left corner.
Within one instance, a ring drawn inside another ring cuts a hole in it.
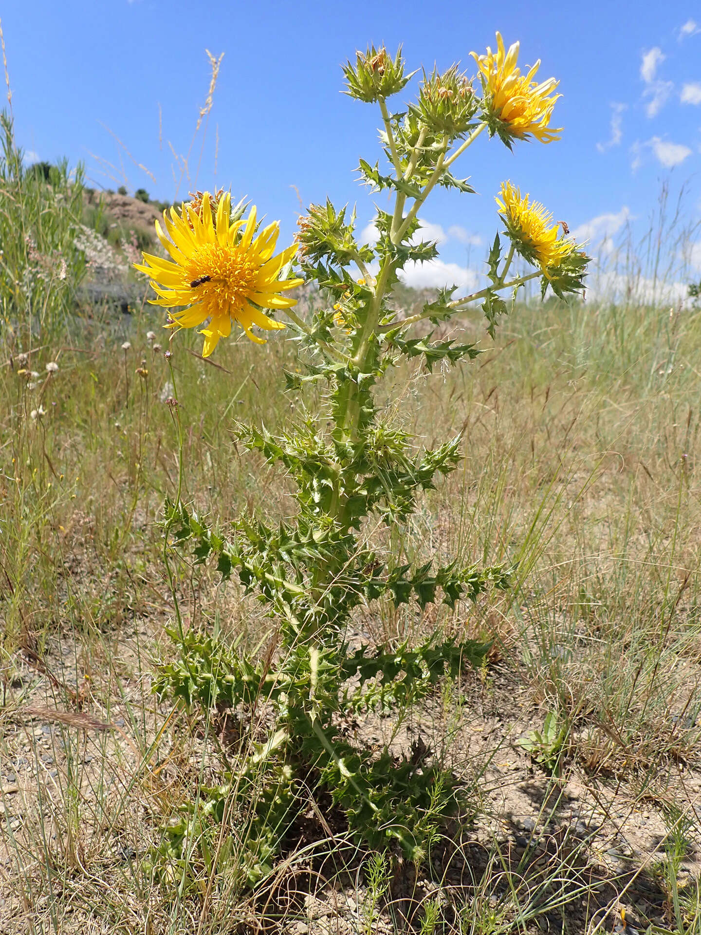
[[[553,139],[559,139],[558,134],[562,133],[562,127],[551,130],[550,122],[555,101],[562,95],[550,95],[560,82],[550,78],[536,84],[532,79],[540,61],[536,62],[527,75],[522,75],[521,69],[516,67],[519,43],[514,42],[507,52],[504,50],[504,40],[497,33],[496,44],[496,52],[489,46],[486,55],[470,52],[479,66],[484,90],[483,105],[490,131],[498,133],[507,143],[510,137],[527,139],[533,136],[541,143],[551,143]]]

